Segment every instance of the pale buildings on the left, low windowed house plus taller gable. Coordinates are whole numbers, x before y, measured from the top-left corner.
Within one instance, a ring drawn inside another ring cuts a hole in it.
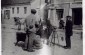
[[[3,0],[4,1],[4,0]],[[26,18],[31,9],[37,11],[37,20],[43,18],[43,11],[45,6],[45,0],[6,0],[3,2],[1,11],[2,19],[11,19],[14,17]]]

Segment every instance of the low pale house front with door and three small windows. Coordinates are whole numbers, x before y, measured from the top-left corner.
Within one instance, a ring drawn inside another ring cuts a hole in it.
[[[30,4],[8,5],[2,8],[4,19],[25,18],[30,14]]]

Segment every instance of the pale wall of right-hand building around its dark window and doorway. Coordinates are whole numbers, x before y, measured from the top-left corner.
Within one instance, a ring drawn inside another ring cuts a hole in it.
[[[78,3],[78,2],[82,2],[82,0],[53,0],[53,1],[54,1],[53,2],[54,7],[56,9],[64,9],[63,18],[64,18],[65,22],[66,22],[66,16],[67,15],[72,16],[72,8],[82,8],[82,3]],[[55,12],[53,12],[53,10],[49,10],[49,13],[50,13],[49,18],[52,21],[52,23],[59,26],[59,24],[58,24],[59,20],[58,20],[58,17],[57,17],[57,13],[56,13],[56,16],[53,15]],[[53,22],[53,20],[55,22]]]

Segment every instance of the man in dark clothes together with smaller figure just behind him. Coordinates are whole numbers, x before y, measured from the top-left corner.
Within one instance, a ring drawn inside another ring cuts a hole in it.
[[[66,40],[66,46],[64,46],[65,49],[71,48],[71,39],[70,37],[73,35],[73,24],[72,24],[72,17],[66,16],[66,24],[64,26],[64,21],[61,19],[59,22],[59,28],[65,29],[65,40]]]

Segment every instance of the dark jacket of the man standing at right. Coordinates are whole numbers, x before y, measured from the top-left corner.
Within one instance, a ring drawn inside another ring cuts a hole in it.
[[[67,20],[66,21],[66,26],[65,26],[65,30],[66,30],[66,35],[72,36],[73,32],[73,24],[71,20]]]

